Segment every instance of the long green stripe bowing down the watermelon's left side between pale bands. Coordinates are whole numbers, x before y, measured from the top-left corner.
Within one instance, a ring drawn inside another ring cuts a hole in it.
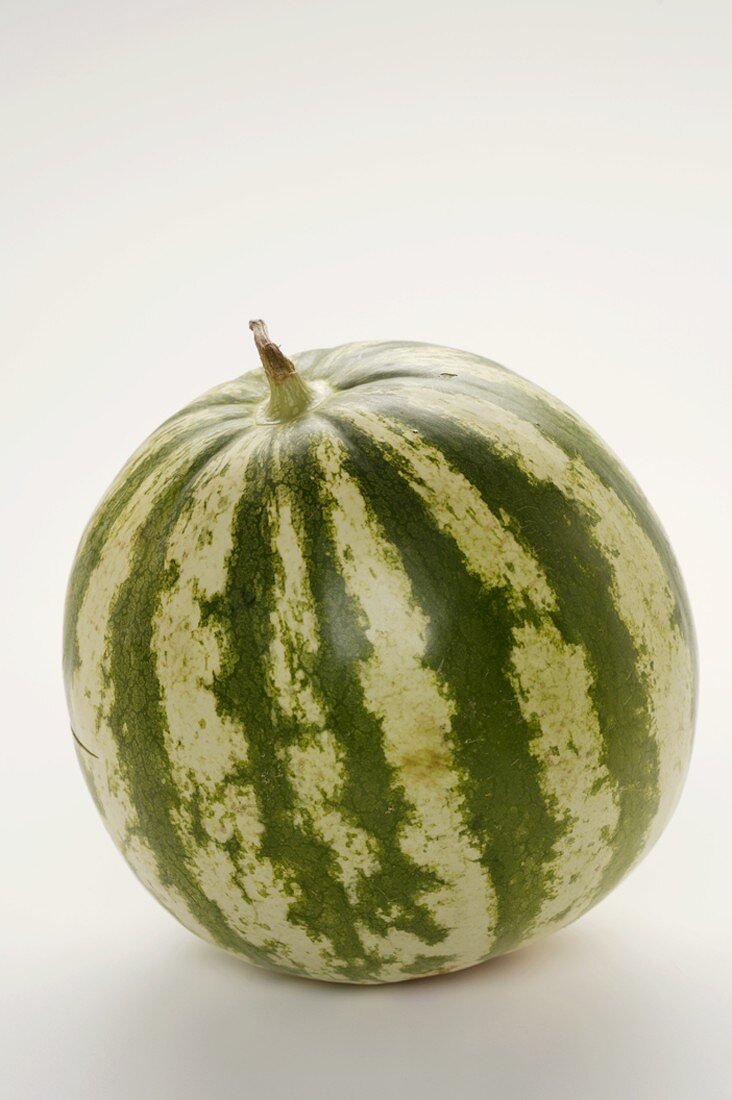
[[[287,969],[277,966],[270,952],[249,944],[230,927],[190,870],[186,843],[174,824],[184,803],[166,751],[166,717],[153,649],[161,598],[177,575],[175,563],[166,568],[166,543],[186,507],[187,491],[206,464],[240,435],[240,429],[229,431],[183,463],[138,531],[130,575],[120,586],[110,615],[108,661],[114,701],[108,722],[138,828],[157,858],[162,883],[185,898],[194,917],[220,946],[254,963]],[[206,834],[201,831],[196,840],[204,843]]]

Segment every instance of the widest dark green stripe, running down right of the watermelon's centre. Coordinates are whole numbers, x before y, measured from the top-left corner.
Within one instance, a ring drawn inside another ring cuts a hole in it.
[[[398,549],[431,624],[425,663],[456,704],[455,760],[467,821],[496,893],[491,954],[499,954],[518,944],[537,916],[550,886],[545,865],[565,828],[543,799],[539,765],[529,750],[534,730],[511,681],[518,619],[507,592],[487,592],[468,572],[455,541],[409,492],[398,455],[351,424],[338,427],[361,492]]]

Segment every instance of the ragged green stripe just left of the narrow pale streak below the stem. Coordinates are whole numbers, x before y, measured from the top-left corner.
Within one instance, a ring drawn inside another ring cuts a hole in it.
[[[373,972],[375,960],[364,955],[335,853],[306,825],[295,824],[297,796],[287,774],[286,750],[307,730],[270,698],[266,653],[272,642],[276,551],[269,507],[274,493],[272,454],[263,452],[236,509],[226,587],[201,604],[205,616],[217,624],[222,645],[212,691],[219,713],[247,732],[244,778],[255,792],[263,825],[254,858],[271,860],[297,883],[299,895],[293,898],[288,920],[313,939],[326,936],[337,956],[334,969],[363,980]],[[236,848],[230,854],[252,858]]]

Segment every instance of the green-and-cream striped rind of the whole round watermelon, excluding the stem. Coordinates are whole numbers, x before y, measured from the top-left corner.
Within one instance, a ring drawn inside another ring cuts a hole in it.
[[[187,927],[332,981],[460,969],[575,920],[691,749],[684,586],[568,409],[420,344],[295,356],[163,425],[74,564],[81,768]]]

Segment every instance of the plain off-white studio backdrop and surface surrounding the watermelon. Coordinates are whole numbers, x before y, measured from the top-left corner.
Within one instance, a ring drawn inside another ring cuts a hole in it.
[[[732,8],[4,0],[0,1065],[15,1098],[729,1097]],[[573,406],[659,513],[702,662],[646,862],[539,946],[353,989],[198,943],[108,839],[61,681],[123,460],[287,350],[415,339]]]

